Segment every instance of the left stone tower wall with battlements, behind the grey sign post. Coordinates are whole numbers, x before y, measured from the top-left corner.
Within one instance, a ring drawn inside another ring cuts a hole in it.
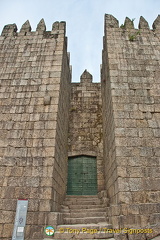
[[[17,199],[29,199],[26,239],[56,223],[66,192],[71,73],[65,23],[0,36],[0,238],[13,231]],[[62,151],[63,149],[63,151]]]

